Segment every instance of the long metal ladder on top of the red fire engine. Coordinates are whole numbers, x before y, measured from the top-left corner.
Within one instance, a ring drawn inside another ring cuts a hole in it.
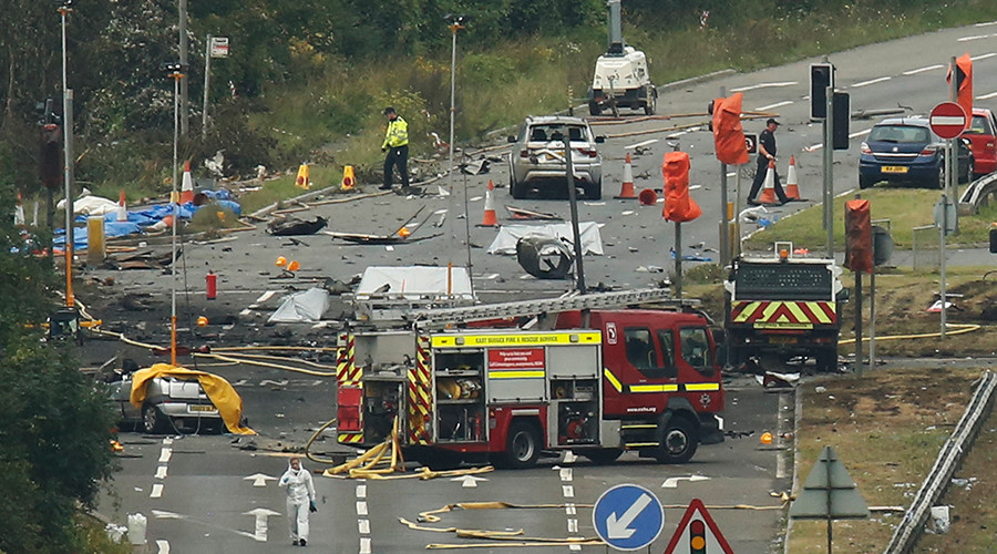
[[[415,311],[412,314],[412,321],[418,329],[430,329],[483,319],[536,316],[582,309],[617,308],[648,302],[655,302],[658,307],[667,308],[685,308],[699,305],[699,300],[695,299],[671,298],[671,290],[667,288],[645,288],[589,295],[573,293],[571,296],[559,298],[484,304],[460,308],[438,308]]]

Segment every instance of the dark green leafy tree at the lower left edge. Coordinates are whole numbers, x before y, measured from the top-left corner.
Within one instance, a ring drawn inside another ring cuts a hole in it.
[[[113,412],[68,346],[42,340],[58,280],[25,238],[0,219],[0,552],[81,552],[75,515],[111,476]]]

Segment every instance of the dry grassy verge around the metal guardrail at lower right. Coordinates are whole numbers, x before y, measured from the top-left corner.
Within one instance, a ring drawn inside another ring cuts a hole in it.
[[[802,384],[798,480],[806,479],[820,451],[831,445],[870,506],[908,506],[962,417],[980,371],[976,367],[898,368]],[[953,531],[945,536],[926,535],[917,552],[981,553],[993,547],[997,525],[990,501],[997,492],[991,471],[997,451],[993,424],[991,417],[958,472],[977,480],[972,488],[953,488],[946,497],[955,505]],[[837,521],[834,551],[883,552],[902,517],[903,513],[874,512],[868,520]],[[824,553],[826,542],[825,522],[796,521],[789,552]]]

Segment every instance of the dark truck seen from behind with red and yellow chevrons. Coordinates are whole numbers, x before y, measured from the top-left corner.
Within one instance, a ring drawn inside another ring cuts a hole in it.
[[[847,299],[841,273],[833,259],[794,255],[792,243],[777,243],[774,256],[736,257],[723,283],[731,363],[772,369],[796,358],[833,370]]]

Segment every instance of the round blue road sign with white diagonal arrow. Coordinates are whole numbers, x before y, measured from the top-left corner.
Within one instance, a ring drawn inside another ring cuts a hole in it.
[[[599,538],[620,551],[636,551],[655,542],[665,526],[658,497],[635,484],[616,485],[604,492],[592,511]]]

